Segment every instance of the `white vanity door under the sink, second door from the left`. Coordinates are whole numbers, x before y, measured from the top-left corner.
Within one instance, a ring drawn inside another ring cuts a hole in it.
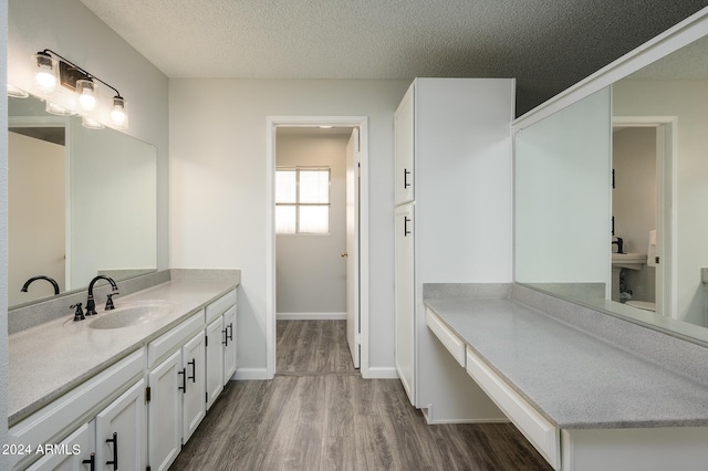
[[[145,380],[140,379],[96,416],[96,470],[144,470],[146,430]]]

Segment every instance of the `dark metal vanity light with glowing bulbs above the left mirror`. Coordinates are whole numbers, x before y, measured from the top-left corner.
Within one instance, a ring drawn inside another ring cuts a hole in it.
[[[83,116],[82,124],[86,127],[96,129],[104,127],[98,116],[108,115],[115,127],[127,128],[127,113],[125,98],[121,96],[121,92],[108,83],[102,81],[97,76],[91,74],[86,70],[74,64],[66,57],[61,56],[51,49],[45,49],[33,55],[37,65],[37,82],[42,92],[52,94],[56,84],[61,84],[75,93],[79,102],[79,113]],[[100,85],[104,85],[114,92],[110,103],[101,106]],[[48,112],[50,111],[50,102],[46,102]],[[54,107],[55,105],[51,105]],[[62,108],[60,106],[60,108]],[[104,109],[102,114],[100,108]],[[75,114],[73,112],[66,112]],[[63,114],[66,116],[67,114]],[[100,127],[98,127],[100,125]]]

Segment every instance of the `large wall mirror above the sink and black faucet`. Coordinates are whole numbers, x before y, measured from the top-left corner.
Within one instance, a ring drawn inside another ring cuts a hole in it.
[[[154,146],[38,97],[8,98],[8,297],[10,308],[157,266]]]

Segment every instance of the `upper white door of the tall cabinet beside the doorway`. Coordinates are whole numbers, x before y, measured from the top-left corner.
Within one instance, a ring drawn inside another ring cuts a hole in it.
[[[415,154],[414,154],[414,94],[415,85],[410,85],[408,92],[403,97],[395,116],[395,153],[396,153],[396,180],[395,180],[395,203],[413,201],[415,198]]]

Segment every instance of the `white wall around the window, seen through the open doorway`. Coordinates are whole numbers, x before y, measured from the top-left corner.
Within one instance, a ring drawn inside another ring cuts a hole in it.
[[[277,237],[277,311],[346,312],[346,144],[350,135],[278,132],[277,165],[330,168],[330,233]],[[313,316],[316,318],[316,316]]]

